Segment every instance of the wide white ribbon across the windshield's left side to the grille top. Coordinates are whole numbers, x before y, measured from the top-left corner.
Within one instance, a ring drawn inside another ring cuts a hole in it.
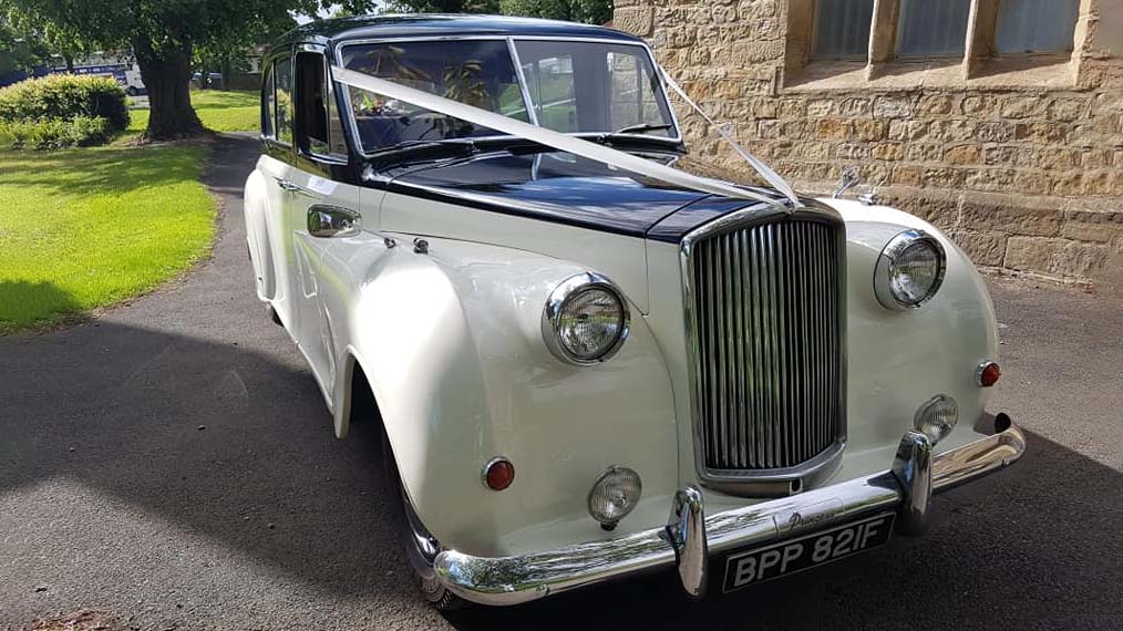
[[[445,116],[465,120],[473,125],[494,129],[495,131],[524,138],[540,145],[546,145],[547,147],[559,152],[566,152],[583,158],[601,162],[617,168],[630,171],[637,175],[661,180],[668,184],[693,189],[703,193],[739,198],[755,202],[764,202],[767,204],[776,203],[776,200],[774,199],[736,186],[728,182],[692,175],[684,171],[664,166],[632,154],[618,152],[617,149],[590,143],[588,140],[584,140],[575,136],[558,134],[557,131],[546,129],[544,127],[529,125],[501,113],[490,112],[487,110],[466,106],[451,99],[416,90],[400,83],[377,79],[363,72],[332,66],[331,74],[336,81],[346,85],[351,85],[375,94],[382,94],[383,97],[396,99],[418,108],[424,108]],[[764,172],[761,172],[761,175],[765,175]],[[768,179],[767,175],[765,175],[765,179]]]

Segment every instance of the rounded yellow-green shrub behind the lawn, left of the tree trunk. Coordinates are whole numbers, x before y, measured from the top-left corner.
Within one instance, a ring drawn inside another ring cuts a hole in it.
[[[110,134],[129,126],[125,90],[104,76],[52,74],[0,89],[0,121],[26,124],[47,119],[74,121],[101,118]]]

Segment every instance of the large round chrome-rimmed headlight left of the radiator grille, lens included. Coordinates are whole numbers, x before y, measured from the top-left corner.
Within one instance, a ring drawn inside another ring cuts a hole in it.
[[[578,274],[557,286],[542,312],[542,337],[558,359],[578,366],[604,362],[628,339],[623,295],[608,278]]]

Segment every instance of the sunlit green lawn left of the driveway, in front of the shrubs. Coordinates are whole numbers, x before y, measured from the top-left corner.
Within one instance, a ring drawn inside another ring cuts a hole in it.
[[[0,152],[0,333],[150,290],[210,248],[208,149]]]

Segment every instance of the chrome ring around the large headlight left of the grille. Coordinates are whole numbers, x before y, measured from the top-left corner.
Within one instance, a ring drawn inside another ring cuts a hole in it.
[[[615,301],[619,307],[620,329],[615,338],[599,349],[597,353],[583,356],[575,353],[565,344],[563,339],[565,333],[563,316],[566,308],[574,300],[593,291],[603,292]],[[593,272],[577,274],[563,281],[562,284],[550,292],[549,298],[546,300],[546,308],[542,310],[542,339],[546,341],[546,347],[558,359],[575,366],[595,366],[611,359],[620,350],[620,347],[623,346],[624,340],[628,339],[630,329],[631,312],[628,309],[628,301],[624,300],[623,292],[612,281]]]

